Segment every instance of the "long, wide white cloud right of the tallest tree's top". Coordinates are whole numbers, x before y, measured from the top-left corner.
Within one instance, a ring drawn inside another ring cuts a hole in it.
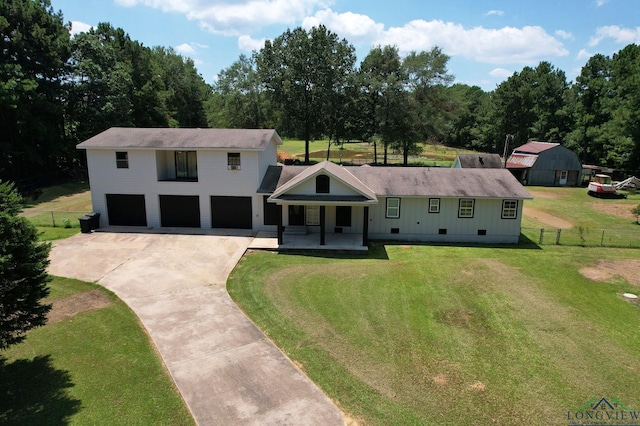
[[[374,44],[396,45],[403,53],[439,46],[451,56],[494,64],[535,64],[543,59],[569,54],[560,41],[538,26],[464,28],[460,24],[439,20],[415,20],[403,27],[389,28]]]

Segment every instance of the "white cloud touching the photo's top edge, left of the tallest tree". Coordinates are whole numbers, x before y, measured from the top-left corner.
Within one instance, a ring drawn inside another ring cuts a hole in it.
[[[212,33],[246,34],[271,24],[293,24],[331,0],[115,0],[121,6],[144,5],[177,12]]]

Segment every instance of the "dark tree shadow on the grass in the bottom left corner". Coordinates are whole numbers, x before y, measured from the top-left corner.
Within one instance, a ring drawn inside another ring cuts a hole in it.
[[[51,357],[7,363],[0,357],[0,424],[66,424],[81,408],[70,398],[68,371],[57,370]]]

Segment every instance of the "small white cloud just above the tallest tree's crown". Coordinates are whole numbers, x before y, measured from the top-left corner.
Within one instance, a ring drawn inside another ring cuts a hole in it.
[[[384,24],[375,22],[367,15],[352,12],[335,13],[331,9],[320,10],[302,21],[304,28],[320,24],[354,44],[374,40],[384,31]]]

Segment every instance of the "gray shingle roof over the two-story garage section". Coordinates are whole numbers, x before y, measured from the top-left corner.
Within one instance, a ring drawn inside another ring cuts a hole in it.
[[[168,129],[112,127],[77,145],[79,149],[238,149],[262,150],[282,140],[273,129]]]

